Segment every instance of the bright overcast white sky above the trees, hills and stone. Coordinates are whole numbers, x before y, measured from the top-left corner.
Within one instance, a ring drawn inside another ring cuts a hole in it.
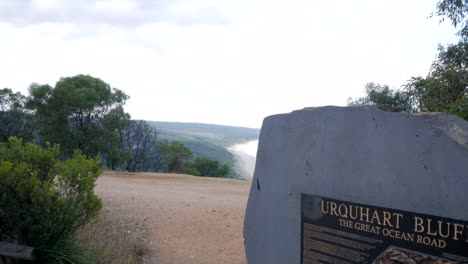
[[[437,0],[0,0],[0,88],[89,74],[133,119],[261,127],[425,76]]]

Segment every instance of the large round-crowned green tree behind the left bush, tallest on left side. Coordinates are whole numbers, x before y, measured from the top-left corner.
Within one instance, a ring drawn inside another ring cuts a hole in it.
[[[32,85],[30,93],[29,106],[39,116],[44,141],[60,144],[65,156],[74,149],[91,157],[105,152],[104,140],[119,127],[106,127],[104,120],[116,113],[120,116],[114,120],[127,118],[121,108],[128,96],[89,75],[61,78],[55,88]]]

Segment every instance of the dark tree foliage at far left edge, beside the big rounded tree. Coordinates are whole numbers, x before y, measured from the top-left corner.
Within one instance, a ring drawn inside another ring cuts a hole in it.
[[[11,89],[0,90],[0,142],[11,136],[31,140],[34,132],[34,116],[26,109],[26,97]]]

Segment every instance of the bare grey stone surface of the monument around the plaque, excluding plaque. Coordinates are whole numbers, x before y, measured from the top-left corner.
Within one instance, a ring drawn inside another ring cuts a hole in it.
[[[468,221],[468,123],[378,107],[267,117],[247,204],[249,264],[300,263],[301,193]]]

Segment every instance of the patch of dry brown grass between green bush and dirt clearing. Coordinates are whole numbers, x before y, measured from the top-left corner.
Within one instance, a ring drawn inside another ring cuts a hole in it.
[[[148,251],[143,230],[108,208],[79,231],[78,240],[96,250],[98,264],[142,264]]]

